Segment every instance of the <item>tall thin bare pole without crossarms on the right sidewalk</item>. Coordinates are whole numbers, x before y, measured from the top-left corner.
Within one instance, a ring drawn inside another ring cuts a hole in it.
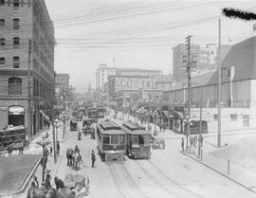
[[[219,47],[218,47],[218,147],[221,147],[221,19],[218,21]]]

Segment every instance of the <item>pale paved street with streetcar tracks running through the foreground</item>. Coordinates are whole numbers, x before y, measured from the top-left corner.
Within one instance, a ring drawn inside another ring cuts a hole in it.
[[[80,123],[81,124],[81,123]],[[179,152],[180,142],[168,139],[166,150],[153,151],[150,160],[132,160],[126,157],[124,164],[106,165],[97,157],[96,168],[91,168],[90,153],[96,150],[96,140],[70,132],[65,149],[78,145],[82,152],[81,170],[66,166],[61,158],[57,176],[64,179],[68,173],[88,175],[89,197],[256,197],[247,189],[230,181],[215,171],[196,163]]]

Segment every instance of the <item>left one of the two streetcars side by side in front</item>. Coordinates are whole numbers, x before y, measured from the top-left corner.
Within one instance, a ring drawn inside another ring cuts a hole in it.
[[[98,149],[103,161],[119,159],[126,153],[126,134],[114,121],[105,119],[97,124]]]

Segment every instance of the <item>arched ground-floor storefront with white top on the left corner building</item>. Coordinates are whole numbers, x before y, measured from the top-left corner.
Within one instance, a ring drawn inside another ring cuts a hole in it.
[[[8,124],[25,126],[25,108],[23,106],[9,106]]]

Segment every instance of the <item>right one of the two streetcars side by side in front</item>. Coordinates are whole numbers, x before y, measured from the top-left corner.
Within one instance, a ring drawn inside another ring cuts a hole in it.
[[[123,122],[122,129],[127,135],[127,155],[132,158],[150,158],[151,134],[146,128],[133,122]]]

